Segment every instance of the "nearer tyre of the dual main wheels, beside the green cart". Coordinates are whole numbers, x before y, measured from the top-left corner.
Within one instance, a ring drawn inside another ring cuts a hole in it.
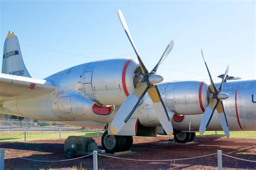
[[[102,147],[106,151],[106,153],[114,153],[118,152],[120,146],[122,146],[122,139],[117,135],[109,135],[107,131],[105,131],[102,135]]]

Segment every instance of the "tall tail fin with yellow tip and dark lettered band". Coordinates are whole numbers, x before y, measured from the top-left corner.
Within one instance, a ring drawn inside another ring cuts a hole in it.
[[[10,31],[4,42],[2,73],[31,77],[22,58],[18,37]]]

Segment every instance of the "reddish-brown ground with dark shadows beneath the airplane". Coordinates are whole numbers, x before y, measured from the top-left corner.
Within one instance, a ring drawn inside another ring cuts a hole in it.
[[[100,138],[94,138],[101,148]],[[178,159],[189,158],[199,155],[211,154],[221,149],[223,153],[233,157],[256,160],[256,139],[230,138],[225,137],[197,137],[196,142],[190,145],[163,144],[169,138],[159,136],[156,138],[134,137],[131,151],[136,153],[119,156],[132,159]],[[62,160],[64,157],[64,141],[58,140],[37,140],[27,142],[0,142],[0,148],[5,148],[6,153],[38,160]],[[5,169],[63,169],[80,168],[92,169],[92,157],[77,159],[65,162],[33,162],[21,160],[5,154]],[[77,155],[79,157],[79,155]],[[98,160],[99,169],[216,169],[217,155],[210,157],[180,160],[172,162],[141,162],[128,161],[102,157]],[[256,163],[235,160],[223,156],[223,167],[232,169],[256,169]]]

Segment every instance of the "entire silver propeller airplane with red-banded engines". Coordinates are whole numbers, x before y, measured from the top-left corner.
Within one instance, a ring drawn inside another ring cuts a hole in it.
[[[19,40],[8,33],[0,74],[0,113],[83,127],[104,127],[107,153],[126,151],[133,136],[174,135],[193,141],[197,131],[255,131],[256,79],[221,74],[214,83],[170,81],[156,74],[171,52],[171,40],[157,65],[148,71],[123,16],[118,17],[137,59],[108,59],[73,66],[44,79],[32,78]],[[218,87],[218,88],[217,88]]]

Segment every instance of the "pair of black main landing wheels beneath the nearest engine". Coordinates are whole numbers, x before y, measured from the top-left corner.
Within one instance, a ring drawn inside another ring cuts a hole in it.
[[[106,153],[127,151],[132,146],[131,136],[109,135],[105,131],[102,135],[102,147]]]

